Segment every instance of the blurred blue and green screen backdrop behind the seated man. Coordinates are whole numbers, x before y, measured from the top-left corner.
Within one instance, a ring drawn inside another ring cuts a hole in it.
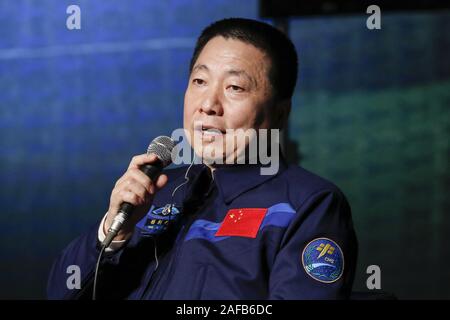
[[[134,154],[182,126],[195,38],[257,1],[0,3],[0,298],[45,298],[52,260],[106,212]],[[450,14],[292,19],[289,136],[348,196],[354,289],[379,265],[399,298],[450,298]]]

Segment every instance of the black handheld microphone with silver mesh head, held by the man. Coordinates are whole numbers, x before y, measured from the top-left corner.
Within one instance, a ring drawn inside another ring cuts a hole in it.
[[[166,136],[159,136],[150,143],[147,149],[147,154],[155,154],[158,159],[152,164],[146,164],[139,169],[144,172],[152,181],[156,182],[162,169],[172,162],[172,149],[174,148],[174,141]],[[108,230],[102,246],[109,247],[112,240],[116,237],[119,230],[124,223],[133,214],[134,206],[131,203],[124,202],[121,204],[119,212],[114,217],[111,227]]]

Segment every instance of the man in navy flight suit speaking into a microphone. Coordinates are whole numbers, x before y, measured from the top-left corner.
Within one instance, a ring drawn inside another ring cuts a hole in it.
[[[122,202],[136,209],[100,265],[100,299],[348,298],[357,242],[341,191],[283,159],[271,175],[260,162],[217,161],[249,151],[226,148],[229,129],[283,128],[296,78],[295,48],[275,28],[235,18],[207,27],[184,101],[184,129],[204,163],[151,181],[139,167],[155,156],[135,156],[107,215],[54,263],[49,298],[91,297],[99,243]],[[67,288],[70,265],[81,289]]]

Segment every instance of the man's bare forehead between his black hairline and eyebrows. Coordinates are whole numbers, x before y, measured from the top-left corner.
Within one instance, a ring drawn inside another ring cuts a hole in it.
[[[245,72],[255,78],[266,78],[269,66],[270,60],[262,50],[240,40],[218,36],[202,49],[192,71],[230,73],[231,70],[234,75]]]

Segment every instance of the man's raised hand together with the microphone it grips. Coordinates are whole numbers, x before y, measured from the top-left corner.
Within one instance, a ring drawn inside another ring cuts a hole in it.
[[[154,195],[167,183],[167,176],[160,174],[171,163],[173,147],[172,139],[160,136],[151,142],[147,154],[132,158],[112,190],[102,245],[108,247],[112,240],[127,238],[148,212]]]

